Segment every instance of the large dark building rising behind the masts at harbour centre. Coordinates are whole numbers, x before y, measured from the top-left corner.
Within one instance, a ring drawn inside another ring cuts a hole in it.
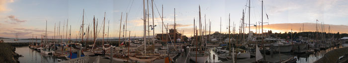
[[[168,37],[168,34],[170,35],[170,38]],[[174,42],[183,42],[183,39],[187,38],[186,36],[182,36],[182,34],[178,33],[176,29],[170,29],[168,34],[156,34],[156,39],[162,40],[162,42],[170,42],[170,39],[172,39]],[[174,35],[176,35],[175,38]],[[180,39],[181,41],[176,41],[176,39]]]

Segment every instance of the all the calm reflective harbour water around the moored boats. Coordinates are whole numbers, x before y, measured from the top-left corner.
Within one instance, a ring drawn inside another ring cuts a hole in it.
[[[315,52],[314,54],[306,55],[306,54],[295,54],[294,56],[299,57],[299,59],[296,61],[297,63],[313,63],[316,60],[319,60],[320,58],[323,57],[323,55],[331,50],[338,49],[338,48],[343,48],[343,47],[348,47],[348,44],[343,44],[337,47],[331,47],[327,50],[321,50],[318,52]],[[39,53],[33,49],[30,49],[28,46],[25,47],[16,47],[17,54],[23,55],[24,57],[19,58],[20,63],[58,63],[58,58],[51,56],[51,55],[46,55]],[[213,51],[213,49],[210,49],[210,56],[208,58],[208,63],[213,63],[213,62],[224,62],[227,61],[225,59],[219,59],[217,57],[217,54]],[[282,54],[287,54],[287,53],[282,53]],[[215,60],[213,60],[213,55],[215,55]],[[193,61],[190,61],[193,62]]]

